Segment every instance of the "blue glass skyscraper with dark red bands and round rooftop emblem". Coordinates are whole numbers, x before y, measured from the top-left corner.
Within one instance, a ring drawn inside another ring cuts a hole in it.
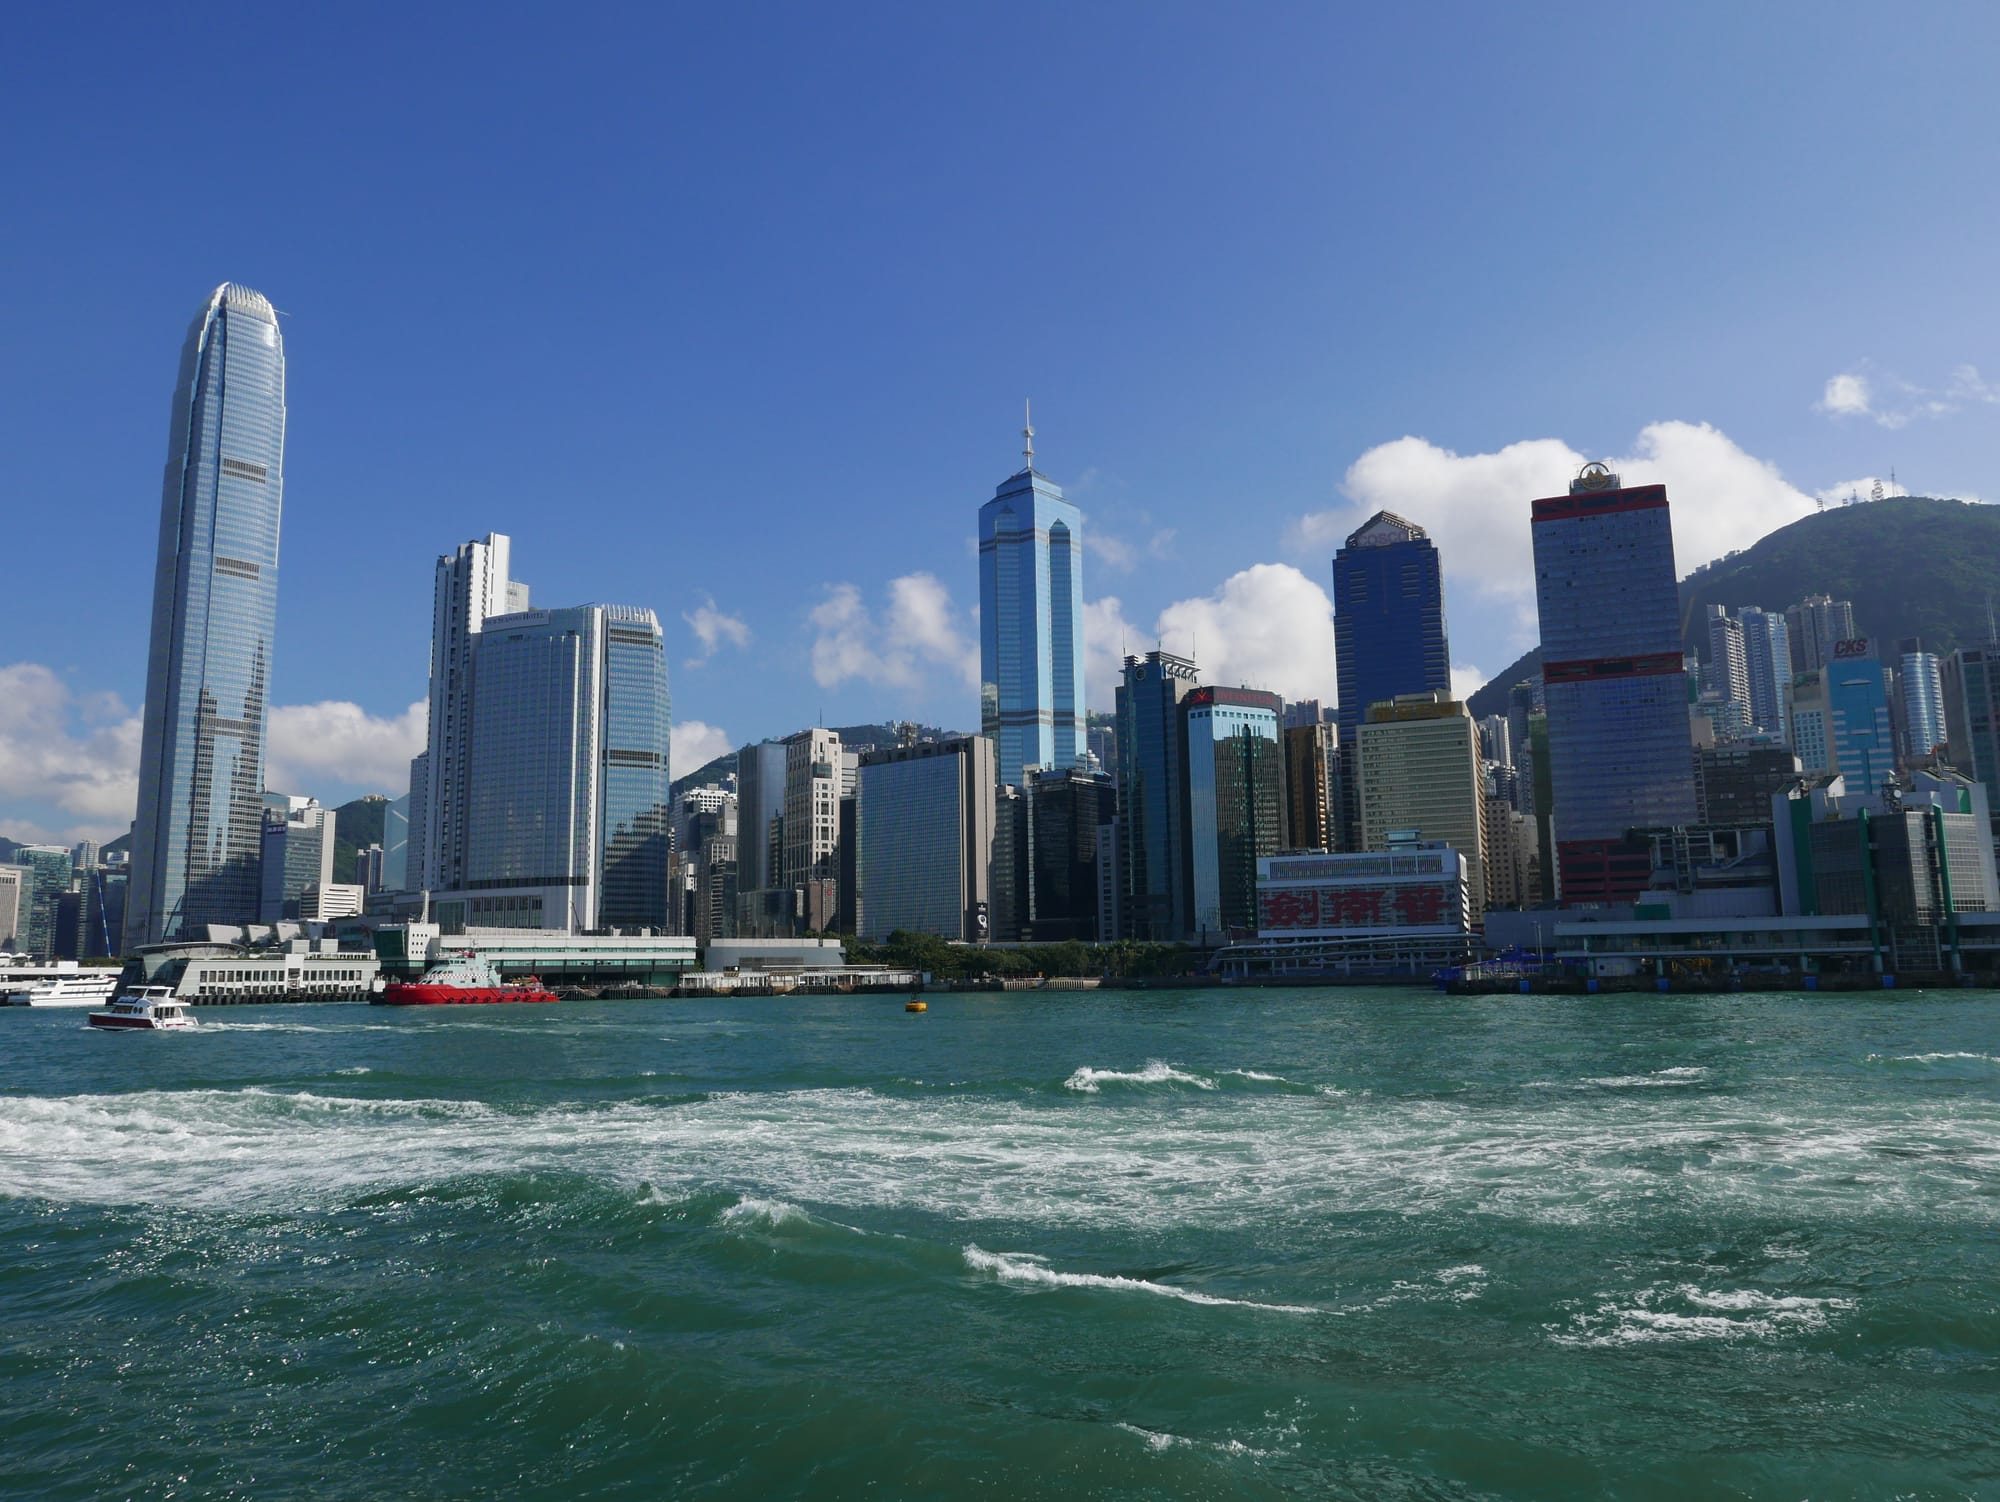
[[[1696,814],[1666,486],[1586,464],[1532,518],[1558,890],[1626,902],[1652,874],[1628,832]]]

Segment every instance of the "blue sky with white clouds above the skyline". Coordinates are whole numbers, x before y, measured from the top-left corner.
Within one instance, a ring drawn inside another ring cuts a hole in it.
[[[1176,632],[1330,696],[1378,504],[1496,672],[1576,456],[1670,482],[1682,568],[1892,466],[2000,488],[1988,6],[410,10],[10,20],[0,832],[130,818],[220,280],[286,312],[274,780],[326,798],[398,790],[430,560],[488,530],[660,612],[678,770],[970,726],[1026,396],[1094,702]]]

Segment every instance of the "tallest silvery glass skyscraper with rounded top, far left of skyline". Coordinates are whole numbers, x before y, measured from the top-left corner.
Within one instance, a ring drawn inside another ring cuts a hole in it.
[[[152,584],[126,944],[258,914],[284,338],[224,282],[180,350]]]

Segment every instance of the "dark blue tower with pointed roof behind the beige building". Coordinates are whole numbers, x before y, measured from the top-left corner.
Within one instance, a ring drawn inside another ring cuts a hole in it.
[[[1368,706],[1398,694],[1452,688],[1438,548],[1416,522],[1376,512],[1334,554],[1334,672],[1340,686],[1340,756],[1354,766],[1354,740]],[[1340,810],[1342,848],[1356,848],[1354,778]]]

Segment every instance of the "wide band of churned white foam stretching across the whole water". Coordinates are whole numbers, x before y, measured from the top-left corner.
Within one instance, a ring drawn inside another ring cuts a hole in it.
[[[1170,1066],[1162,1066],[1166,1070]],[[712,1092],[492,1108],[282,1090],[0,1094],[0,1194],[84,1204],[326,1208],[476,1174],[568,1172],[686,1198],[1010,1226],[1268,1226],[1340,1214],[1596,1224],[1674,1204],[1788,1224],[1906,1212],[2000,1220],[2000,1102],[1912,1116],[1676,1090],[1404,1098],[1194,1086],[1064,1110],[1036,1092]],[[1338,1122],[1328,1110],[1338,1112]],[[1922,1156],[1884,1144],[1922,1138]],[[964,1238],[958,1238],[964,1240]]]

